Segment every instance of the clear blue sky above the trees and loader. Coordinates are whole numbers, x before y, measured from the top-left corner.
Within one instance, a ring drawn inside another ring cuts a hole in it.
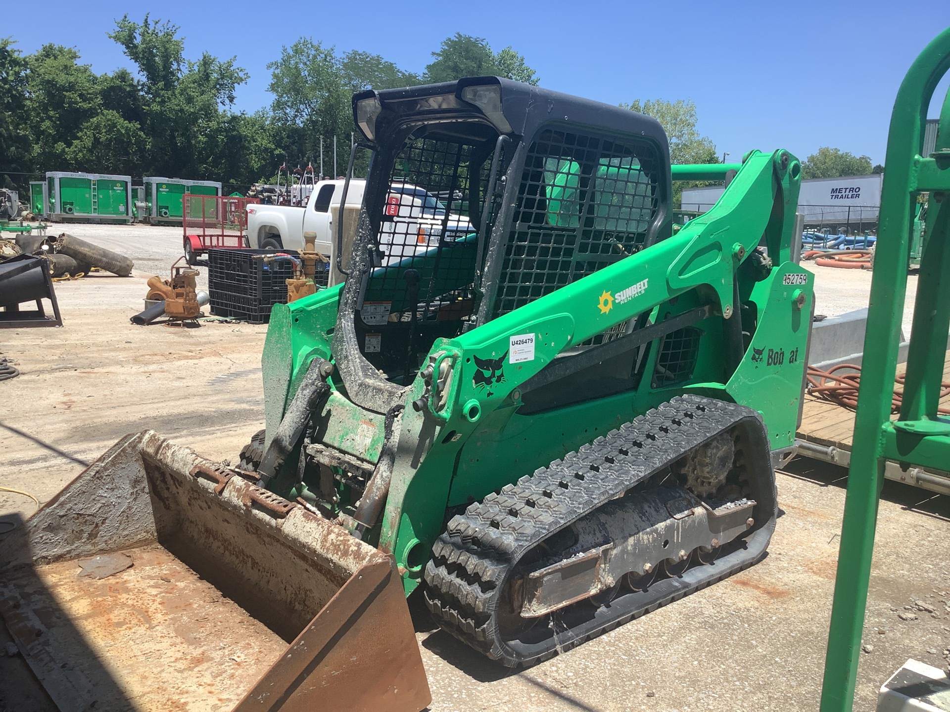
[[[251,74],[237,108],[267,105],[282,45],[301,35],[381,54],[416,72],[456,31],[521,52],[543,86],[606,103],[693,99],[720,154],[829,145],[883,162],[904,72],[950,26],[950,0],[826,2],[190,2],[47,0],[0,28],[25,52],[76,47],[97,72],[128,66],[105,33],[135,8],[179,25],[185,54],[237,55]],[[942,100],[947,81],[938,94]],[[939,103],[932,106],[935,113]]]

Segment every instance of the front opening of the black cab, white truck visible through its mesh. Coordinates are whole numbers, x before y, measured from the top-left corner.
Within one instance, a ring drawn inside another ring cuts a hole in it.
[[[356,326],[364,356],[394,382],[407,383],[434,340],[461,333],[475,309],[473,220],[494,140],[410,136],[393,162],[377,232],[381,267],[367,277]]]

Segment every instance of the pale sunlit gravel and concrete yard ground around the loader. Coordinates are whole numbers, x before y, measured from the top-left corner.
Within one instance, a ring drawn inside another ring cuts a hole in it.
[[[128,317],[142,309],[144,280],[166,273],[179,256],[180,230],[57,225],[51,233],[63,230],[131,256],[136,269],[124,279],[94,273],[58,283],[62,329],[0,330],[0,351],[22,370],[0,384],[9,403],[0,415],[0,484],[47,501],[85,462],[146,427],[213,459],[234,459],[263,422],[265,327],[133,327]],[[869,272],[807,269],[816,275],[818,312],[833,316],[866,306]],[[908,308],[915,289],[911,277]],[[845,474],[807,459],[791,463],[778,476],[781,516],[765,561],[524,670],[494,665],[433,629],[411,601],[431,709],[816,709]],[[878,687],[908,657],[945,665],[948,503],[899,483],[884,485],[865,627],[871,651],[861,655],[857,710],[874,709]],[[32,509],[23,497],[0,493],[0,520]],[[0,628],[0,645],[5,635]],[[0,657],[3,709],[52,709],[22,658]]]

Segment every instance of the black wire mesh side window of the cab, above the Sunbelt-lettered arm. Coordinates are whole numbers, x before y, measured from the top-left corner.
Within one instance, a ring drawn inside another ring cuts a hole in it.
[[[658,206],[658,164],[649,141],[542,128],[524,161],[493,316],[639,251]]]

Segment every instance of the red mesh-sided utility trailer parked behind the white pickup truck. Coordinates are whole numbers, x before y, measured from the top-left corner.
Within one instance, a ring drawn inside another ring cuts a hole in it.
[[[198,263],[208,250],[243,250],[247,239],[247,206],[259,203],[256,197],[181,197],[184,256],[189,265]]]

